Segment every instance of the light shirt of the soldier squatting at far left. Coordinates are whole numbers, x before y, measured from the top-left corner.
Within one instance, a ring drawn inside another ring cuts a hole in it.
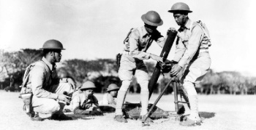
[[[50,92],[50,85],[58,81],[56,65],[52,65],[45,57],[42,57],[42,60],[34,63],[29,73],[27,87],[32,90],[34,96],[57,99],[58,94]]]

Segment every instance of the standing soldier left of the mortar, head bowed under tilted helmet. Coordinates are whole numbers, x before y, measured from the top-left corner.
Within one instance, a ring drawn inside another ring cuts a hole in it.
[[[148,70],[143,60],[151,58],[162,61],[161,57],[146,52],[153,41],[156,41],[161,47],[165,44],[165,38],[157,31],[157,27],[163,24],[162,19],[155,11],[147,12],[141,16],[141,19],[145,25],[133,29],[124,40],[124,51],[118,70],[118,76],[122,81],[122,85],[118,91],[116,116],[114,118],[118,122],[127,123],[127,120],[123,117],[121,108],[127,94],[127,89],[129,89],[129,85],[132,82],[132,76],[134,75],[141,87],[140,101],[142,107],[140,118],[143,118],[148,113]],[[147,122],[151,122],[151,119],[148,118]]]

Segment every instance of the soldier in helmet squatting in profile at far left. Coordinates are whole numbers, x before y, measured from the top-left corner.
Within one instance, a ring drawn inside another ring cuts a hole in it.
[[[31,120],[42,121],[38,113],[52,114],[54,120],[71,120],[62,112],[65,102],[69,102],[69,97],[63,93],[71,94],[75,82],[71,78],[60,79],[56,73],[56,62],[61,61],[61,50],[64,48],[60,41],[48,40],[41,49],[44,56],[34,63],[27,83],[27,88],[33,93],[32,107],[35,114]]]

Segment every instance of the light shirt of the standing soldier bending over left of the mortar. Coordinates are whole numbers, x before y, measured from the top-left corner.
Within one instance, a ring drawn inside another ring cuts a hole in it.
[[[152,42],[156,41],[161,47],[165,44],[165,38],[159,33],[154,32],[152,35],[148,34],[144,26],[135,28],[129,35],[129,41],[124,46],[124,50],[130,52],[130,55],[139,60],[149,59],[149,53],[146,51],[151,46]]]

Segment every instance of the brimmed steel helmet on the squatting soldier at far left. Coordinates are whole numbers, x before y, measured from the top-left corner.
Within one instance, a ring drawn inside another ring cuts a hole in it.
[[[45,44],[42,45],[40,49],[64,49],[61,42],[57,40],[48,40],[45,41]]]

